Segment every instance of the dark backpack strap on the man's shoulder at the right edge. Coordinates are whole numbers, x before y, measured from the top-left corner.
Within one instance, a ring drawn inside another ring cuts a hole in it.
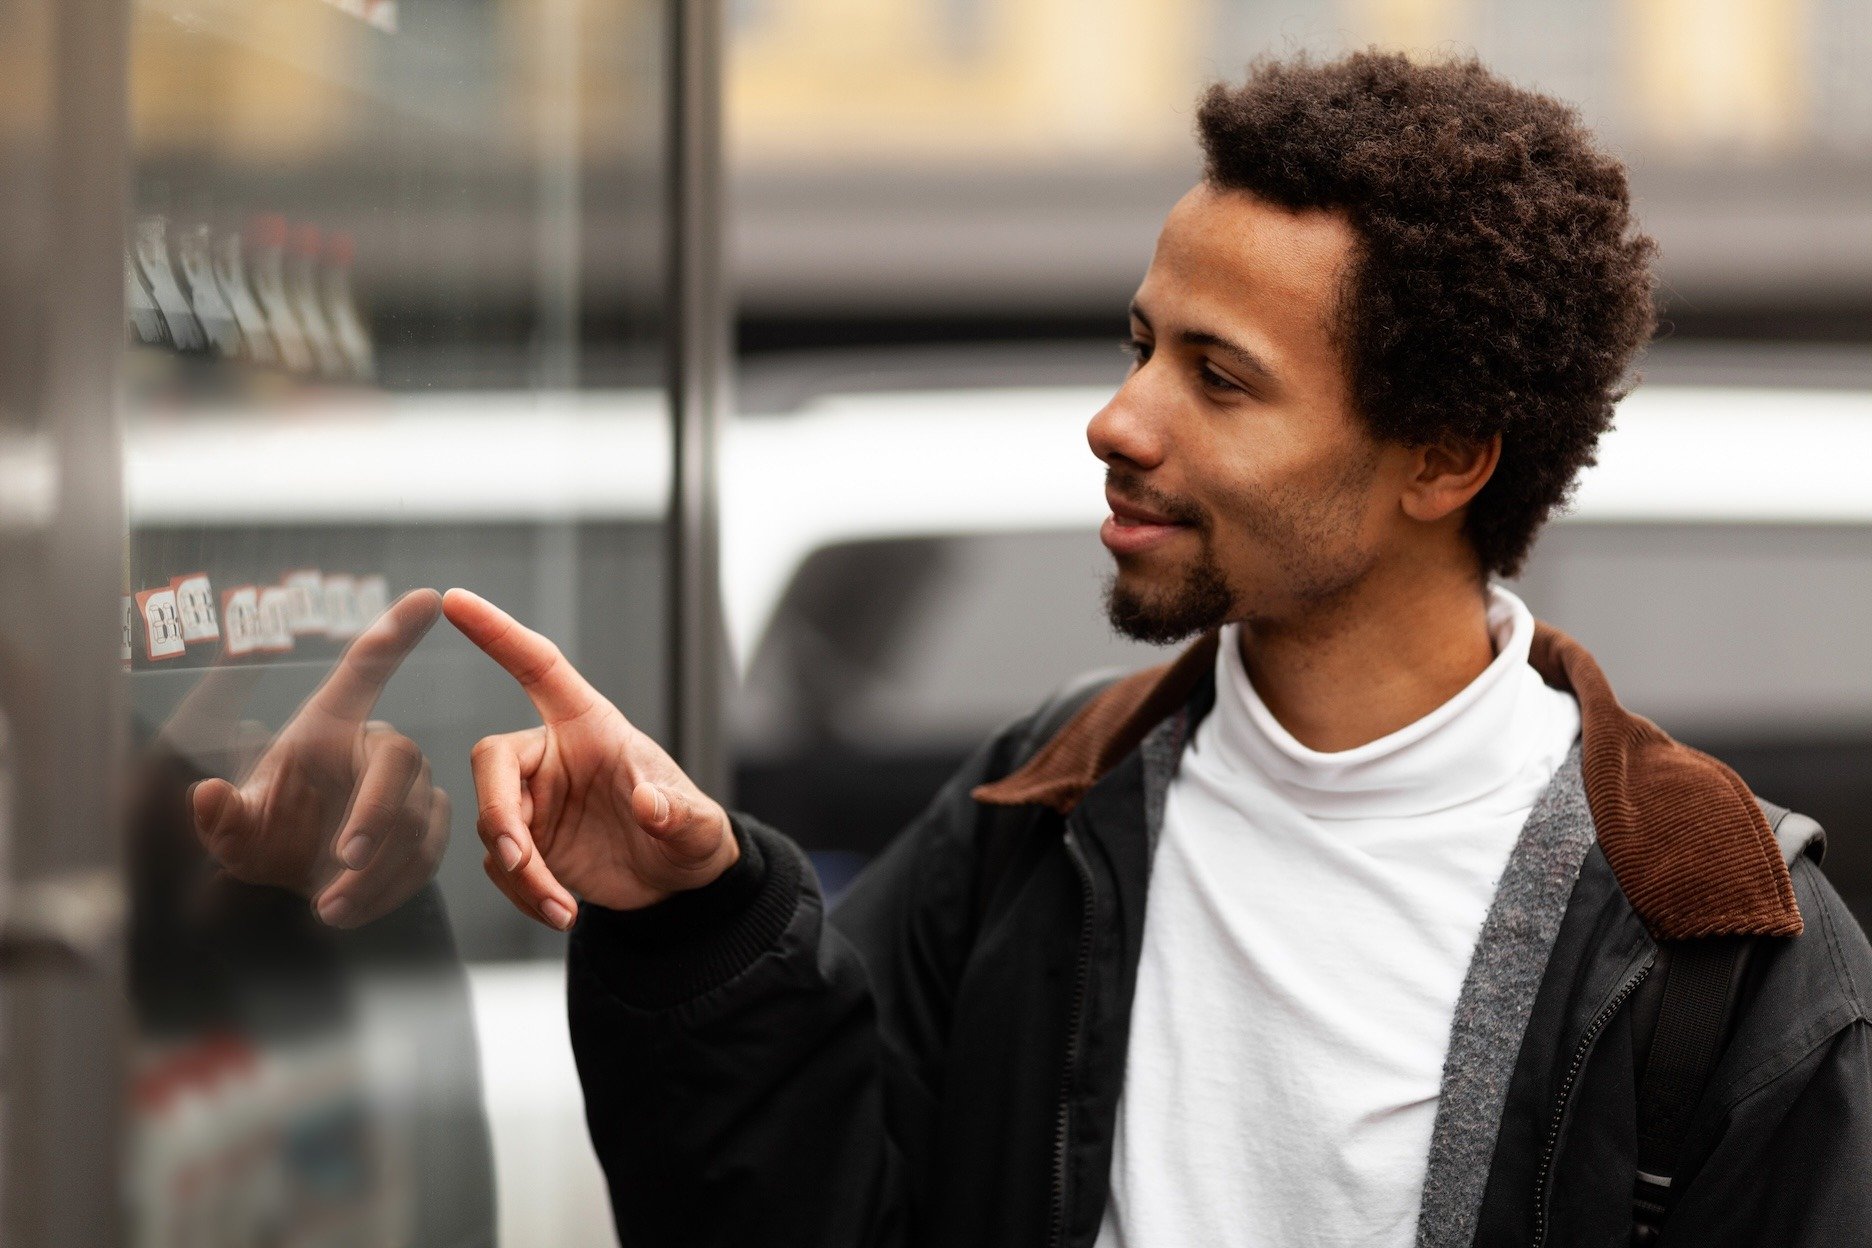
[[[1756,799],[1792,868],[1803,853],[1816,863],[1825,833],[1805,814]],[[1659,945],[1651,975],[1632,999],[1638,1076],[1638,1173],[1632,1181],[1632,1244],[1647,1248],[1664,1229],[1677,1197],[1690,1111],[1704,1096],[1733,1023],[1748,952],[1758,937],[1713,936]]]

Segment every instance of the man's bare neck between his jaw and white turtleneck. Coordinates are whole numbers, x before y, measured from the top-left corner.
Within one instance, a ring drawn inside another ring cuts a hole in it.
[[[1470,567],[1380,576],[1292,619],[1241,627],[1254,692],[1295,741],[1333,752],[1413,724],[1494,660]]]

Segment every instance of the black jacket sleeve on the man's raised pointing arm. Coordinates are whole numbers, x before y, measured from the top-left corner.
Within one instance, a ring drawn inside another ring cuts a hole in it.
[[[912,1242],[968,956],[981,747],[827,919],[799,848],[732,816],[741,861],[642,911],[586,904],[569,1012],[620,1242]]]

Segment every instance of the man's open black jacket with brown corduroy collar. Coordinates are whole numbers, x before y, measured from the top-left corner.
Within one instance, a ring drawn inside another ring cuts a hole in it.
[[[1149,879],[1138,745],[1207,709],[1213,647],[1060,733],[998,733],[829,919],[799,849],[749,818],[708,889],[584,907],[573,1046],[623,1244],[1091,1244]],[[1561,634],[1535,666],[1580,698],[1597,844],[1473,1242],[1629,1242],[1629,999],[1659,937],[1737,932],[1762,947],[1660,1242],[1872,1244],[1865,937],[1810,861],[1782,866],[1733,773],[1617,707]]]

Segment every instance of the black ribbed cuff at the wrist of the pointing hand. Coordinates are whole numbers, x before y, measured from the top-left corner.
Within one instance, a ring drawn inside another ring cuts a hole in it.
[[[728,823],[741,857],[715,881],[642,909],[578,906],[571,958],[625,1005],[665,1009],[726,984],[792,921],[799,851],[743,814]]]

